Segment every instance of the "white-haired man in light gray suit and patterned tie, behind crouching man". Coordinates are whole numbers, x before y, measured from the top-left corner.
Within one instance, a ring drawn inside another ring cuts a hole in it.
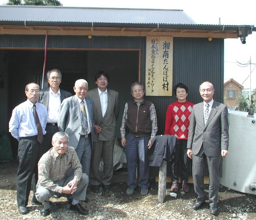
[[[94,102],[85,98],[88,91],[86,80],[76,80],[76,95],[63,100],[58,115],[58,128],[69,136],[69,146],[75,148],[82,164],[83,173],[89,176],[92,138],[94,135]]]

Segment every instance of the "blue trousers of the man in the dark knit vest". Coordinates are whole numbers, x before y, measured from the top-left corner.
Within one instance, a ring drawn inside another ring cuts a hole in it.
[[[136,182],[136,166],[139,159],[140,176],[138,178],[138,186],[141,189],[149,187],[149,163],[148,163],[148,141],[150,136],[136,138],[128,134],[125,147],[125,155],[128,170],[128,188],[137,187]]]

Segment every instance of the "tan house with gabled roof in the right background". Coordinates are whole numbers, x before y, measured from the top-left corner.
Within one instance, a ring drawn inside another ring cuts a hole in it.
[[[226,98],[226,105],[237,106],[236,97],[242,92],[242,86],[240,83],[236,82],[233,78],[224,79],[224,97]]]

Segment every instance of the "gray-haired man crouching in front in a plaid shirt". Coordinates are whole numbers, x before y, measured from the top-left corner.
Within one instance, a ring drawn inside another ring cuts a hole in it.
[[[76,151],[68,146],[68,135],[64,132],[55,133],[52,137],[52,146],[38,162],[36,198],[44,206],[40,214],[50,214],[49,199],[55,194],[72,194],[73,200],[68,200],[71,203],[70,210],[87,215],[88,211],[79,201],[86,199],[89,179],[82,173],[82,165]],[[74,170],[74,176],[70,176],[70,168]]]

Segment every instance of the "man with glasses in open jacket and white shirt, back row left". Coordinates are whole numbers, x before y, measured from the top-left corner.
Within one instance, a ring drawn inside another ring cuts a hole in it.
[[[38,98],[38,102],[47,109],[46,135],[42,143],[43,154],[52,147],[52,136],[59,131],[57,120],[60,104],[65,98],[72,96],[70,92],[60,89],[62,78],[60,70],[49,70],[46,76],[50,87],[43,88]]]

